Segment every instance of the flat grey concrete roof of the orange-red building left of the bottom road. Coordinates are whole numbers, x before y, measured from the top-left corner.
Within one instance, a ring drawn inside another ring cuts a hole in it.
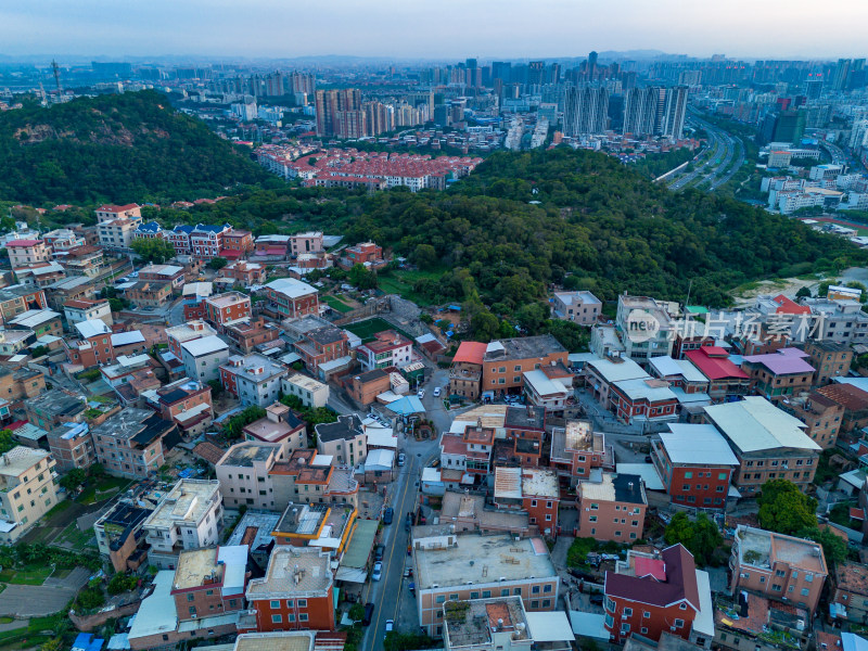
[[[332,585],[328,553],[311,547],[278,546],[271,551],[263,578],[251,579],[248,600],[321,596]]]

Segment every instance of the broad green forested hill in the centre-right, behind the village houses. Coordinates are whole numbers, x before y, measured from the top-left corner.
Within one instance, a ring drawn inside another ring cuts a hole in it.
[[[603,298],[684,299],[692,280],[691,299],[723,306],[745,281],[866,259],[788,217],[673,193],[613,157],[567,148],[494,154],[442,194],[376,194],[347,230],[349,241],[373,239],[448,269],[417,292],[460,299],[475,290],[500,314],[545,296],[550,282]]]

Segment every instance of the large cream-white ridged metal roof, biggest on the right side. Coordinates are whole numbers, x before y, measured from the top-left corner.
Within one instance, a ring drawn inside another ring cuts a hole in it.
[[[742,452],[777,448],[821,448],[804,433],[805,423],[761,396],[703,407],[717,429]]]

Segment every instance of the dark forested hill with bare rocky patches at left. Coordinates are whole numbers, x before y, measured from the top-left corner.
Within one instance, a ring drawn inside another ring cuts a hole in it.
[[[266,178],[244,152],[156,91],[0,113],[0,200],[193,200]]]

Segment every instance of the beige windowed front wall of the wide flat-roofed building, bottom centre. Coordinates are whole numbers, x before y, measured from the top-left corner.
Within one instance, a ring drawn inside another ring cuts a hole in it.
[[[553,611],[560,589],[557,576],[505,580],[474,586],[445,586],[420,590],[417,597],[419,625],[432,637],[443,636],[443,604],[495,597],[521,597],[528,612]]]

